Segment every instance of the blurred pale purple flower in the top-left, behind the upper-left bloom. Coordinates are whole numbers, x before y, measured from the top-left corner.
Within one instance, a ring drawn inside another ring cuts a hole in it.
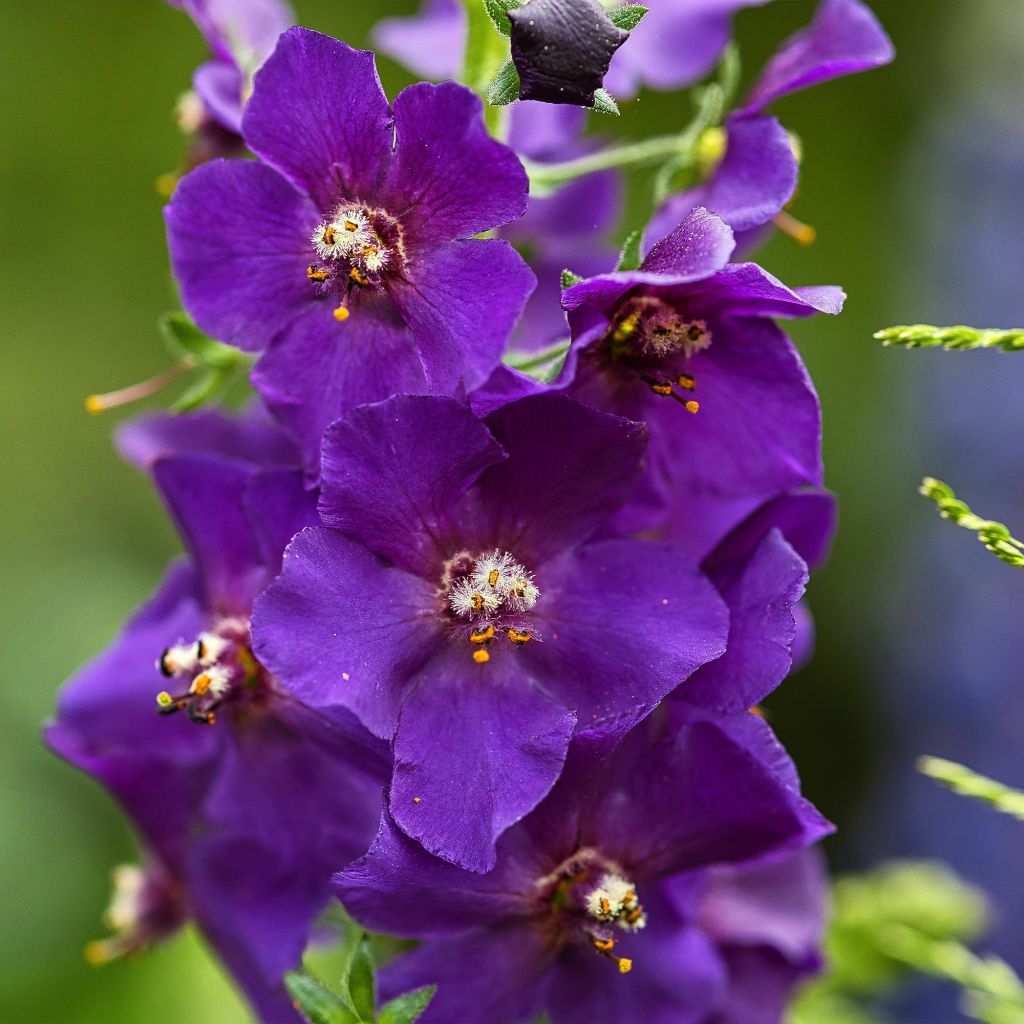
[[[178,120],[193,136],[187,165],[233,157],[245,148],[242,110],[253,76],[278,37],[295,24],[285,0],[167,0],[196,23],[212,57],[193,75],[193,91],[178,104]]]

